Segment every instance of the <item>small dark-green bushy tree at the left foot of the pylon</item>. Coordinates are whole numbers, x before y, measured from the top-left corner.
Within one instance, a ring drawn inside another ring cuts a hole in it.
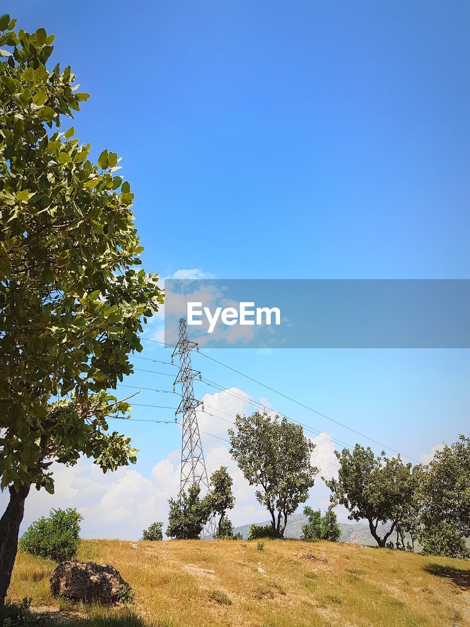
[[[170,498],[167,536],[177,540],[197,540],[211,516],[204,498],[199,498],[201,487],[194,483],[187,493],[183,490],[178,498]]]

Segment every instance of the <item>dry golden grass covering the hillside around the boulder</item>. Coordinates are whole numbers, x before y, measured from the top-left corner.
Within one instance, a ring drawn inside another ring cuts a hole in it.
[[[243,541],[134,548],[122,540],[86,540],[78,559],[115,566],[135,601],[112,609],[61,602],[70,625],[470,627],[470,563],[454,559],[296,540],[266,540],[264,551]],[[10,598],[28,595],[34,606],[58,606],[48,584],[53,567],[19,554]]]

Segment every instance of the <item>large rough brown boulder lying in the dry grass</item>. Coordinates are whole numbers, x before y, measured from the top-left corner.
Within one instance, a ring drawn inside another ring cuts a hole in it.
[[[50,577],[54,596],[74,601],[116,603],[129,594],[130,586],[118,571],[95,562],[61,562]]]

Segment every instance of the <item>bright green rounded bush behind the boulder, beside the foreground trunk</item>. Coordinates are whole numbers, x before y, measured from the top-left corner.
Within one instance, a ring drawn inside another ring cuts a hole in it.
[[[40,518],[28,527],[19,548],[30,555],[63,562],[75,556],[80,544],[80,520],[76,509],[52,509],[49,518]]]

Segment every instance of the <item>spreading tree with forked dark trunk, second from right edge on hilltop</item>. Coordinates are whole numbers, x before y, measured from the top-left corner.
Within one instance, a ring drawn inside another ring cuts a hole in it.
[[[349,520],[366,519],[370,533],[380,547],[385,547],[395,527],[404,520],[414,495],[412,465],[404,465],[400,456],[375,457],[367,447],[356,445],[353,451],[335,451],[340,462],[338,478],[325,480],[332,491],[332,506],[344,505]],[[383,537],[377,533],[379,523],[391,522]]]

